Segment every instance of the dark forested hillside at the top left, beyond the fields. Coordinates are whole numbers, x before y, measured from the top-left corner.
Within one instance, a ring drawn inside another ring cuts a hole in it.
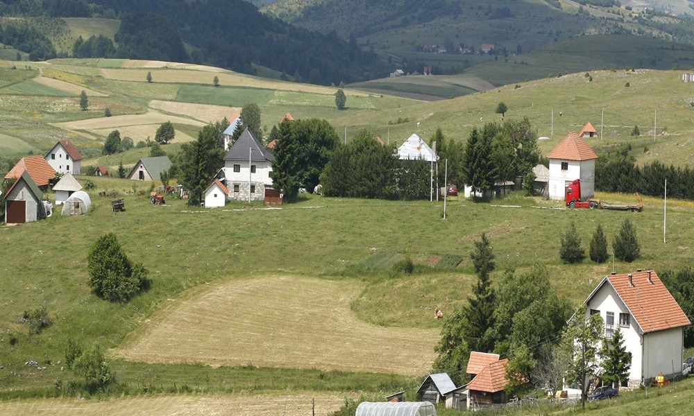
[[[0,15],[121,19],[117,48],[103,39],[78,39],[73,53],[79,57],[195,62],[244,73],[260,64],[282,78],[322,85],[380,78],[390,69],[354,40],[291,26],[242,0],[7,0],[0,2]],[[4,43],[30,53],[31,59],[56,56],[40,33],[7,20],[2,26],[4,31],[12,27],[12,34],[24,33],[21,42]],[[85,46],[92,44],[99,47]],[[40,52],[32,54],[33,49]]]

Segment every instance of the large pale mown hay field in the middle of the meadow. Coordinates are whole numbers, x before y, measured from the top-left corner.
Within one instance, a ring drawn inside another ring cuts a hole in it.
[[[355,318],[361,281],[254,277],[174,302],[115,355],[151,363],[205,363],[424,374],[435,329],[380,327]]]

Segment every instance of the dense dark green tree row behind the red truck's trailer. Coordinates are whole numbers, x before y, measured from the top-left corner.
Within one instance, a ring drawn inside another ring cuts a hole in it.
[[[694,170],[689,166],[666,166],[657,160],[637,166],[625,151],[600,155],[595,163],[595,189],[606,192],[638,192],[648,196],[694,199]]]

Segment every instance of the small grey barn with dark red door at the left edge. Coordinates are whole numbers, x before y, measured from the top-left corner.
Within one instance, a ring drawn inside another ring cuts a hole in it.
[[[26,171],[3,198],[6,201],[5,222],[8,224],[23,224],[44,218],[41,202],[43,192]]]

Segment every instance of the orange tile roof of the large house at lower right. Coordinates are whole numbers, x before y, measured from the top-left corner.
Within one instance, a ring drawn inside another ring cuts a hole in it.
[[[629,275],[607,276],[605,280],[609,281],[627,306],[643,333],[686,327],[691,324],[656,272],[632,273],[632,284],[629,284]],[[598,288],[593,291],[593,294],[598,291]]]

